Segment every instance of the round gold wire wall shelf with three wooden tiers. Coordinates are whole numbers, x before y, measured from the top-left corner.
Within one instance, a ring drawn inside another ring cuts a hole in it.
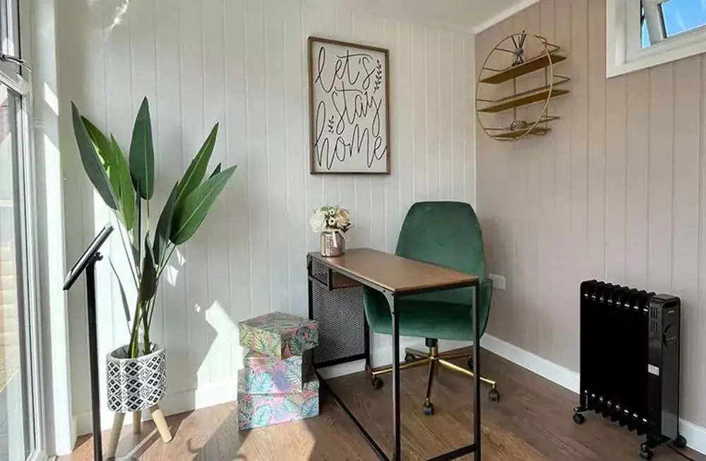
[[[554,70],[565,60],[560,47],[525,32],[508,35],[493,47],[476,82],[476,114],[486,135],[516,141],[549,133],[549,123],[559,118],[549,113],[549,102],[569,92],[560,86],[570,78]],[[510,111],[512,118],[505,115]]]

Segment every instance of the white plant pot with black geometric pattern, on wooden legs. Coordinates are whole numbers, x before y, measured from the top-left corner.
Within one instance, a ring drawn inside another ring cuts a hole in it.
[[[107,356],[108,408],[116,413],[147,410],[167,392],[167,361],[164,349],[136,359],[126,359],[125,346]],[[141,345],[140,345],[141,349]]]

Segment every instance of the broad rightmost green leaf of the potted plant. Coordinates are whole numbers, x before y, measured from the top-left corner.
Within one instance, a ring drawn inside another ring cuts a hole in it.
[[[196,233],[213,202],[233,176],[235,168],[232,166],[205,180],[182,202],[177,203],[177,209],[172,218],[172,230],[169,234],[174,245],[181,245]]]

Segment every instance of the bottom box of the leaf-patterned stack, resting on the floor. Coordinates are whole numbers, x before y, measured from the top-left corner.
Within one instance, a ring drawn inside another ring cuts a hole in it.
[[[255,429],[318,416],[317,379],[304,384],[298,393],[253,395],[246,393],[243,370],[238,379],[238,429]]]

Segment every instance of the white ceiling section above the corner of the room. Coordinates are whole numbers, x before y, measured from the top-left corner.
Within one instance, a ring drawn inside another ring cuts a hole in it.
[[[320,0],[321,1],[321,0]],[[330,0],[325,0],[330,1]],[[385,18],[479,32],[537,0],[339,0]]]

